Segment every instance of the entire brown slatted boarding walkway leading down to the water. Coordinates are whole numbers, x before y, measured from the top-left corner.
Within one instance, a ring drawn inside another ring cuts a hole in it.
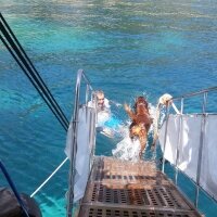
[[[199,217],[152,162],[94,157],[79,217]]]

